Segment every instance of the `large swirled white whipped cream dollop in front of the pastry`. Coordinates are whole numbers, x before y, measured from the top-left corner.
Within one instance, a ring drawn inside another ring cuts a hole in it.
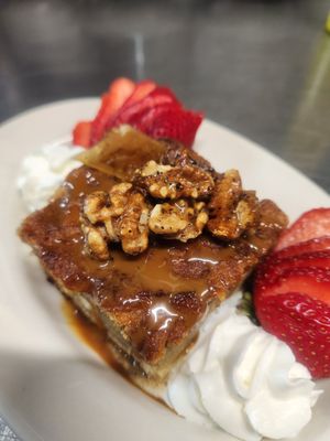
[[[285,343],[237,311],[238,301],[233,295],[207,319],[168,384],[167,404],[242,440],[296,437],[321,391]]]

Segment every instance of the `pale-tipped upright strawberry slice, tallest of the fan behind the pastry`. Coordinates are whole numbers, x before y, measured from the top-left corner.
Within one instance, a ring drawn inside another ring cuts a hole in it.
[[[129,78],[118,78],[111,83],[108,94],[102,96],[101,107],[92,121],[91,143],[105,135],[107,122],[134,93],[135,84]]]

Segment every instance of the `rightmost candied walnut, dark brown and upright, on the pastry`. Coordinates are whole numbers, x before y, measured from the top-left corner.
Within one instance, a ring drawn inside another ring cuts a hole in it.
[[[256,204],[254,192],[243,192],[239,172],[229,170],[217,182],[209,202],[207,227],[217,237],[237,239],[255,223]]]

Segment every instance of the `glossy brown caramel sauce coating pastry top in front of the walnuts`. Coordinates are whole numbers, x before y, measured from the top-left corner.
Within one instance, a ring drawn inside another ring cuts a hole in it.
[[[257,261],[257,250],[246,240],[227,245],[201,235],[187,244],[155,239],[135,257],[113,245],[109,261],[94,259],[80,228],[81,202],[86,194],[109,191],[118,182],[99,170],[74,170],[56,198],[32,215],[31,235],[37,235],[38,256],[53,277],[68,290],[88,293],[125,330],[133,351],[157,362],[168,345],[187,335],[210,302],[219,304],[235,288]],[[264,240],[257,240],[262,247]],[[89,330],[82,336],[112,365],[99,335]]]

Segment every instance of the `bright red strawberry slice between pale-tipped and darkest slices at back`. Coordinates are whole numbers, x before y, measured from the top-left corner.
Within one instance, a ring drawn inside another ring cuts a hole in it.
[[[117,112],[113,120],[109,122],[109,126],[116,127],[121,123],[130,123],[131,126],[142,127],[140,121],[143,115],[150,109],[156,109],[164,105],[170,105],[173,107],[180,106],[175,95],[167,87],[156,87],[143,99],[130,106],[123,106],[123,108]]]

